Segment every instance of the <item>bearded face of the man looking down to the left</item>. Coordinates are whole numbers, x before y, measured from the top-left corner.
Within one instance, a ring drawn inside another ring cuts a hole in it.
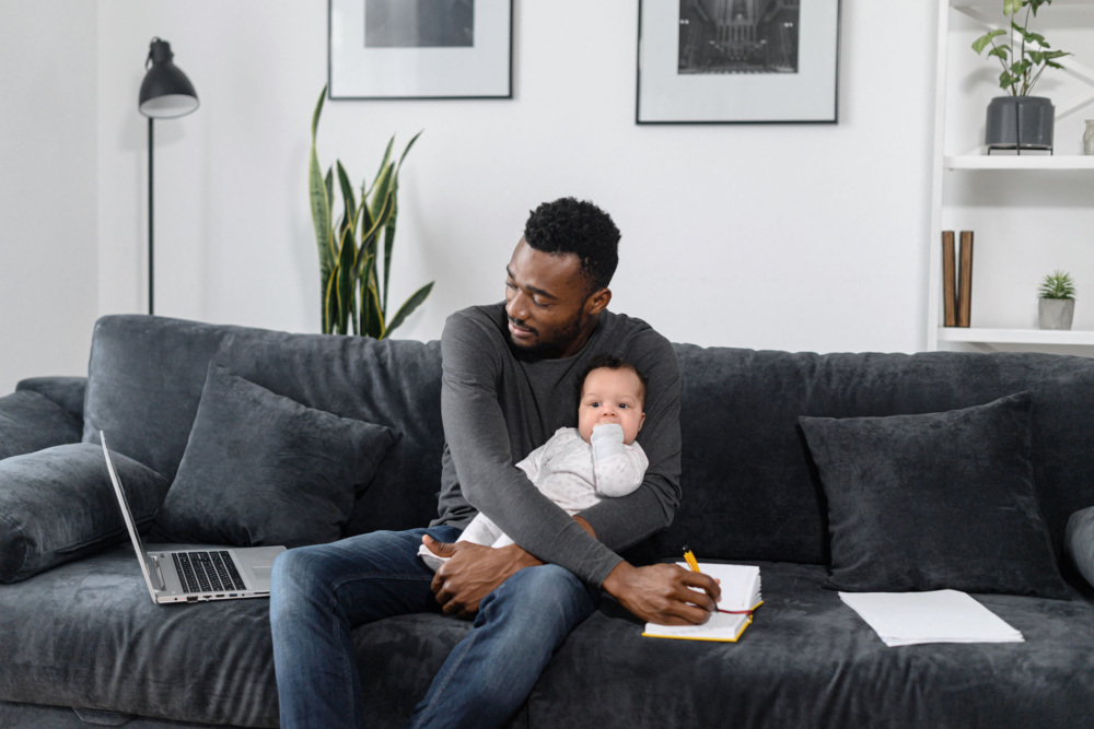
[[[513,346],[545,358],[575,354],[593,324],[589,305],[593,296],[578,257],[545,254],[521,238],[505,274],[505,314]]]

